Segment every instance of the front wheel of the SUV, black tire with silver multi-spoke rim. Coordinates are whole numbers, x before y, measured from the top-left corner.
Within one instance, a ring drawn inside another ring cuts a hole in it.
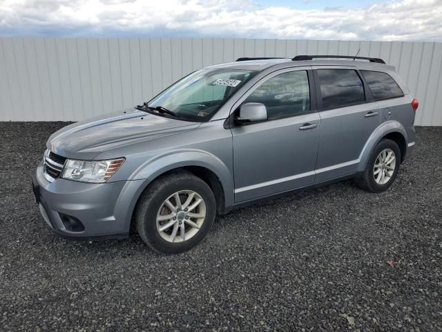
[[[178,194],[181,208],[175,193]],[[192,196],[192,193],[195,194]],[[192,209],[200,199],[202,201],[193,210],[184,212],[188,199],[191,199],[191,203],[188,203],[187,210]],[[171,205],[167,205],[166,201]],[[175,218],[160,220],[173,214]],[[201,217],[203,214],[204,219]],[[138,234],[150,248],[164,254],[178,254],[190,250],[204,239],[213,225],[215,214],[215,196],[209,185],[190,172],[180,171],[157,178],[144,190],[135,208],[135,223]],[[160,231],[169,224],[172,224],[170,228]],[[183,229],[184,241],[181,236]]]

